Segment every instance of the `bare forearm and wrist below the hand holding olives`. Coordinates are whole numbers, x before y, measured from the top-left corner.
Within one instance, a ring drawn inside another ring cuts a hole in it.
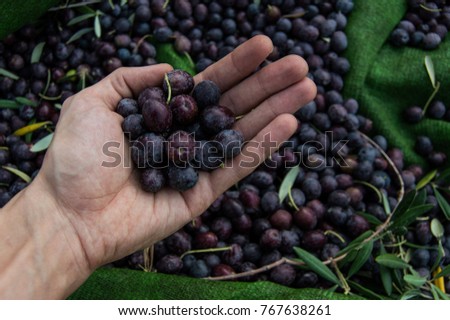
[[[83,251],[56,202],[33,182],[0,211],[0,298],[57,299],[89,275]]]

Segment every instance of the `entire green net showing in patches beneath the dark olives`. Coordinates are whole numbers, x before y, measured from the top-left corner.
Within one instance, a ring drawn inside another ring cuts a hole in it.
[[[37,17],[55,1],[27,0],[27,6],[12,10],[0,2],[0,37],[31,17]],[[387,39],[406,12],[405,0],[354,0],[355,9],[346,29],[349,48],[346,56],[352,70],[346,77],[345,97],[360,102],[360,112],[373,120],[374,133],[383,134],[391,146],[403,150],[408,163],[424,164],[413,150],[415,137],[430,136],[435,148],[450,156],[446,148],[450,123],[425,119],[409,125],[402,120],[408,106],[423,106],[433,88],[424,67],[430,55],[436,78],[441,82],[437,99],[450,105],[450,43],[425,52],[413,48],[393,48]],[[20,12],[19,12],[20,11]],[[158,47],[158,61],[192,71],[191,62],[176,54],[170,45]],[[133,270],[97,270],[71,299],[355,299],[326,290],[292,289],[269,282],[215,282],[182,276],[168,276]]]

